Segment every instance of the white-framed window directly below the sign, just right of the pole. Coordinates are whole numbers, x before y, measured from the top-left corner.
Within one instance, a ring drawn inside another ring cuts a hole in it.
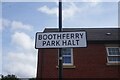
[[[63,65],[73,65],[72,48],[62,48]]]

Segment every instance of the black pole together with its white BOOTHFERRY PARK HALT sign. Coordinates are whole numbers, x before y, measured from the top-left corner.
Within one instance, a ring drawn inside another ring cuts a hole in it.
[[[62,48],[87,47],[86,32],[62,32],[62,0],[59,0],[59,32],[36,33],[35,48],[59,48],[59,80],[63,79]]]

